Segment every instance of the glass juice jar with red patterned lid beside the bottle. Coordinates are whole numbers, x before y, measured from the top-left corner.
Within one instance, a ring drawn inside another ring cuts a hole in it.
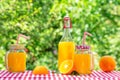
[[[74,54],[75,71],[79,74],[90,74],[94,68],[93,55],[89,46],[76,46]]]

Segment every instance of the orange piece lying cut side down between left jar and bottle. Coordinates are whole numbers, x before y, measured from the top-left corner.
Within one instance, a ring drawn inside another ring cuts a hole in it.
[[[33,70],[33,74],[48,74],[49,71],[45,66],[36,66]]]

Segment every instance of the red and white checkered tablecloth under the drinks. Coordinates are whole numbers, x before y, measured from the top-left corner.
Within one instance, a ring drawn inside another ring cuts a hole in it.
[[[24,73],[10,73],[0,71],[0,80],[120,80],[120,71],[103,72],[93,71],[90,75],[62,75],[49,72],[48,75],[34,75],[32,71]]]

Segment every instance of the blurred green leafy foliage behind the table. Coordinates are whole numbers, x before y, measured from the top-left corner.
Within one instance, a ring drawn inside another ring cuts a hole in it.
[[[57,70],[57,46],[63,34],[63,17],[72,20],[72,37],[81,44],[84,31],[95,55],[111,55],[120,67],[120,0],[0,0],[0,69],[4,56],[18,34],[30,36],[26,44],[27,69],[45,65]]]

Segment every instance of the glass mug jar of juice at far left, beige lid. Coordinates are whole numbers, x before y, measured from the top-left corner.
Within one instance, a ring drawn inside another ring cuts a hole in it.
[[[6,69],[9,72],[24,72],[26,70],[26,53],[24,46],[13,44],[5,55]]]

